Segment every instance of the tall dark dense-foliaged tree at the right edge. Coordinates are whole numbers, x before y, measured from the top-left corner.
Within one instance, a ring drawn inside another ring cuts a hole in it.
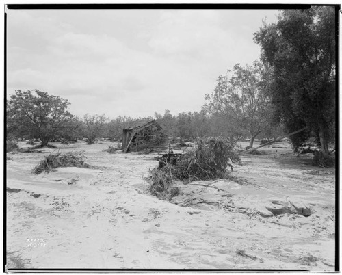
[[[272,67],[269,96],[276,118],[293,135],[296,148],[310,134],[319,135],[321,152],[329,155],[329,133],[335,122],[335,14],[334,8],[317,6],[307,10],[285,10],[278,23],[254,34],[262,48],[262,60]]]

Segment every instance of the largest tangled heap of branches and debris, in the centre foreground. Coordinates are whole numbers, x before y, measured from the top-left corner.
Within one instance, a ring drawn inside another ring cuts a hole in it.
[[[208,137],[199,139],[194,150],[183,155],[166,154],[159,166],[150,170],[150,193],[168,200],[179,194],[175,181],[226,178],[228,166],[233,170],[232,163],[241,164],[235,146],[235,141],[227,137]]]

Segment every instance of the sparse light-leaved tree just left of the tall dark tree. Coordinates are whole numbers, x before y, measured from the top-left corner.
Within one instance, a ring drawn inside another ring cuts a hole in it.
[[[224,118],[233,135],[248,131],[250,148],[269,125],[269,100],[263,91],[262,73],[260,62],[254,62],[253,66],[236,64],[231,77],[220,75],[214,92],[206,94],[207,103],[203,106],[209,114]]]

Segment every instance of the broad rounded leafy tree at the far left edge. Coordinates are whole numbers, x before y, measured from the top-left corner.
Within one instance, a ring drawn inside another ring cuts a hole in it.
[[[68,112],[70,103],[60,96],[34,90],[16,90],[7,102],[7,131],[16,137],[39,138],[42,146],[61,137],[73,115]]]

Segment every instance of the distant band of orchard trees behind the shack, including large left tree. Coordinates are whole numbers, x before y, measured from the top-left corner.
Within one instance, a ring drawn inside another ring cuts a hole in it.
[[[40,140],[42,146],[47,146],[48,142],[83,138],[92,144],[98,137],[120,141],[124,128],[153,119],[163,127],[166,135],[174,138],[228,136],[241,139],[250,136],[243,123],[237,124],[235,118],[211,114],[206,105],[200,112],[181,112],[177,116],[166,110],[163,115],[155,112],[154,116],[144,118],[118,116],[114,119],[107,118],[105,114],[86,114],[83,118],[77,118],[68,111],[69,105],[66,99],[47,92],[16,90],[7,103],[8,138]],[[279,133],[279,127],[263,127],[257,135],[269,139]]]

